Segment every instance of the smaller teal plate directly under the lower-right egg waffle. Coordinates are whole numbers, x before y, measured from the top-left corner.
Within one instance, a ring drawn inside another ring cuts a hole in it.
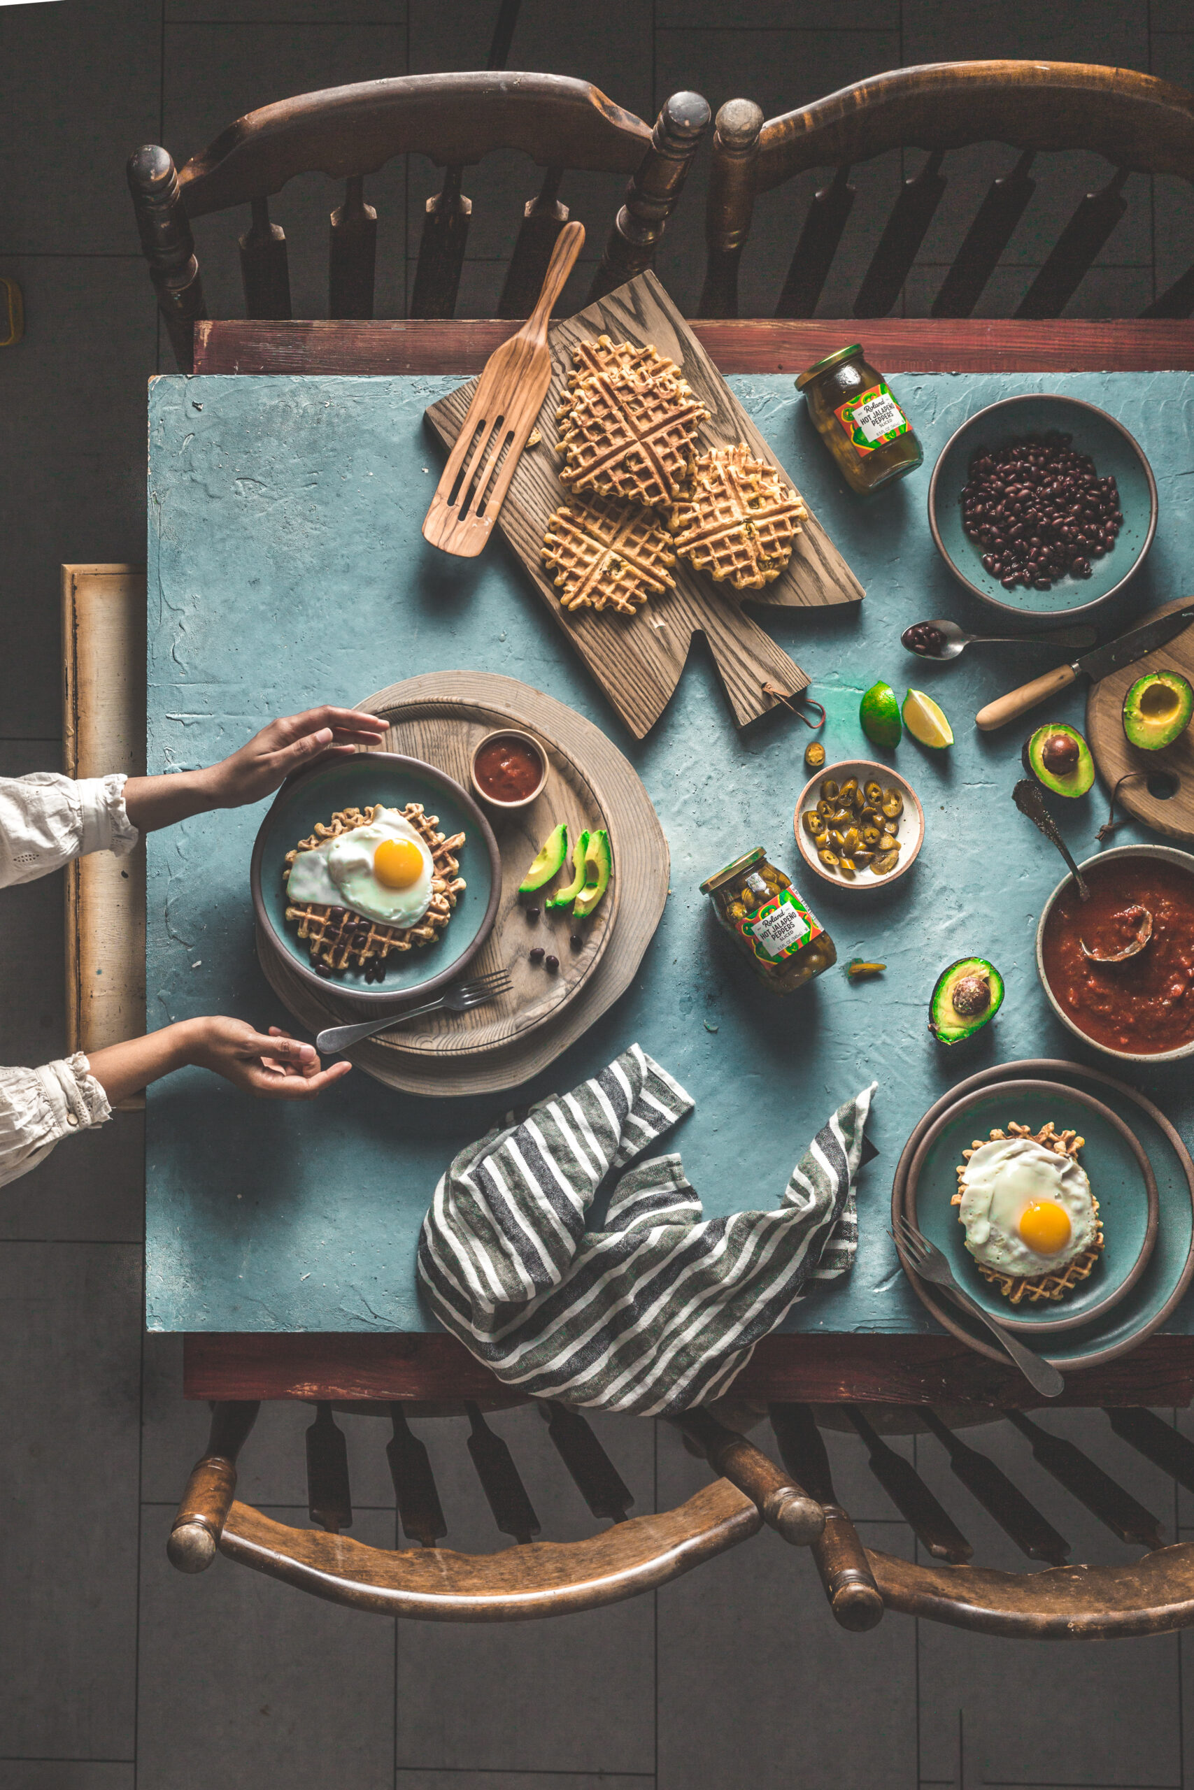
[[[1099,1201],[1103,1257],[1090,1276],[1063,1298],[1013,1305],[979,1274],[965,1246],[965,1228],[952,1205],[956,1171],[963,1149],[976,1138],[986,1142],[992,1128],[1006,1131],[1015,1121],[1038,1131],[1049,1119],[1058,1131],[1074,1129],[1085,1138],[1078,1162]],[[1156,1178],[1135,1131],[1103,1101],[1056,1081],[1004,1081],[947,1106],[920,1138],[909,1164],[904,1210],[943,1251],[958,1283],[985,1312],[1008,1330],[1035,1334],[1076,1330],[1126,1298],[1147,1266],[1158,1226]]]

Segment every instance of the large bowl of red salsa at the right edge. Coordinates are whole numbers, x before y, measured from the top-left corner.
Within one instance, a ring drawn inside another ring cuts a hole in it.
[[[1058,1019],[1087,1044],[1126,1063],[1194,1056],[1194,857],[1174,845],[1121,845],[1079,866],[1090,900],[1072,877],[1058,882],[1036,927],[1036,974]],[[1121,963],[1094,963],[1153,936]]]

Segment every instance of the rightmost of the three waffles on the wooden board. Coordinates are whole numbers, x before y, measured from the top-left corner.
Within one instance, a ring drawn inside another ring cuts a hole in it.
[[[693,462],[668,526],[677,553],[696,571],[729,578],[738,591],[761,591],[791,558],[807,514],[779,469],[738,442]]]

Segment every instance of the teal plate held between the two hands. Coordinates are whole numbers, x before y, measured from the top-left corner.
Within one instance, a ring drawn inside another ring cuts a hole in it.
[[[428,814],[439,814],[439,831],[451,838],[464,832],[456,854],[465,881],[451,920],[433,945],[415,945],[394,959],[390,954],[383,983],[365,983],[358,972],[315,976],[310,952],[297,927],[286,925],[283,866],[286,852],[308,840],[315,823],[328,825],[342,807],[406,807],[422,802]],[[414,995],[433,995],[458,977],[482,949],[498,915],[501,897],[501,857],[492,827],[467,789],[455,779],[396,752],[358,752],[351,759],[313,766],[290,777],[277,791],[261,822],[249,866],[252,908],[258,931],[267,933],[283,956],[290,958],[306,983],[324,995],[344,997],[345,1004],[380,1013]]]

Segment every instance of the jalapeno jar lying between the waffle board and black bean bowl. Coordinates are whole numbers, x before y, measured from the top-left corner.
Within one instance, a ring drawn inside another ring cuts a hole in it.
[[[852,490],[879,490],[924,460],[911,422],[859,342],[806,367],[797,390]]]

